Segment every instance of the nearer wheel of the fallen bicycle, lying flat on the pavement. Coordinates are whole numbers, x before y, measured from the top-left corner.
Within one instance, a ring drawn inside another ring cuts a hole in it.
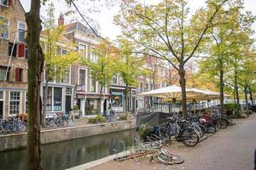
[[[168,150],[160,150],[157,159],[168,165],[180,164],[184,161],[182,156],[171,154]]]

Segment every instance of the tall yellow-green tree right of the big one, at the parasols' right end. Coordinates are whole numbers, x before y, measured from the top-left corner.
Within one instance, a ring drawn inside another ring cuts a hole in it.
[[[210,52],[208,53],[209,56],[201,59],[200,62],[201,73],[207,72],[212,78],[218,77],[221,112],[224,111],[224,82],[227,82],[227,80],[224,81],[224,74],[230,70],[228,65],[232,61],[231,56],[234,56],[233,54],[239,50],[238,45],[247,42],[246,32],[242,30],[249,28],[253,20],[250,13],[241,14],[243,7],[240,1],[229,5],[230,8],[220,8],[216,17],[220,24],[212,27],[209,31],[210,41],[207,43],[209,48],[206,48],[206,53],[207,51]],[[237,56],[237,54],[235,55]],[[237,67],[239,63],[234,61],[237,61],[237,59],[232,61],[233,64],[236,63],[235,66]],[[205,76],[205,74],[203,75]],[[231,75],[236,77],[236,71]],[[232,83],[229,82],[230,84]],[[235,84],[233,88],[238,89],[237,83]],[[238,96],[238,90],[236,90],[236,96]]]

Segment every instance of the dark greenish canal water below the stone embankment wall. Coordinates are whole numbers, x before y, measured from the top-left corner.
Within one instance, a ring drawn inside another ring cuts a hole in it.
[[[122,151],[120,140],[131,145],[136,131],[128,130],[42,145],[44,170],[62,170]],[[0,152],[1,170],[26,170],[26,149]]]

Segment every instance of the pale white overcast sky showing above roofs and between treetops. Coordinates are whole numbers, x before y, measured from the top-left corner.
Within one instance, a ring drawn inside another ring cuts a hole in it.
[[[115,39],[116,36],[120,34],[120,28],[118,26],[115,26],[113,24],[113,16],[115,14],[118,14],[119,12],[119,1],[120,0],[112,0],[113,4],[112,6],[109,6],[108,0],[98,0],[96,3],[90,3],[90,7],[88,4],[81,3],[84,2],[82,0],[77,0],[78,8],[84,14],[85,16],[90,17],[93,20],[96,20],[98,25],[100,26],[100,32],[102,34],[102,37],[109,37],[110,39]],[[157,0],[144,0],[145,3],[155,3]],[[31,0],[20,0],[21,4],[25,8],[26,12],[30,8]],[[65,5],[64,0],[49,0],[49,2],[53,2],[55,4],[55,19],[57,20],[58,16],[63,13],[65,14],[68,10],[75,11],[74,8],[68,8],[67,5]],[[189,8],[191,13],[193,14],[197,8],[201,8],[204,6],[205,0],[189,0]],[[256,15],[256,0],[244,0],[244,6],[245,10],[252,11],[254,15]],[[47,5],[42,5],[41,7],[41,15],[46,16],[45,9],[47,8]],[[90,11],[90,8],[96,8],[98,11]],[[73,20],[82,20],[82,18],[76,14],[73,16],[67,16],[65,18],[65,24],[68,24],[72,22]],[[254,31],[256,31],[256,23],[253,25]],[[254,35],[254,37],[256,37]]]

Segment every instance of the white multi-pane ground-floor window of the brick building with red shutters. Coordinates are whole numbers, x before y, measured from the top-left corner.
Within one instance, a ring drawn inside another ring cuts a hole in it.
[[[9,114],[20,113],[20,92],[10,92]]]

